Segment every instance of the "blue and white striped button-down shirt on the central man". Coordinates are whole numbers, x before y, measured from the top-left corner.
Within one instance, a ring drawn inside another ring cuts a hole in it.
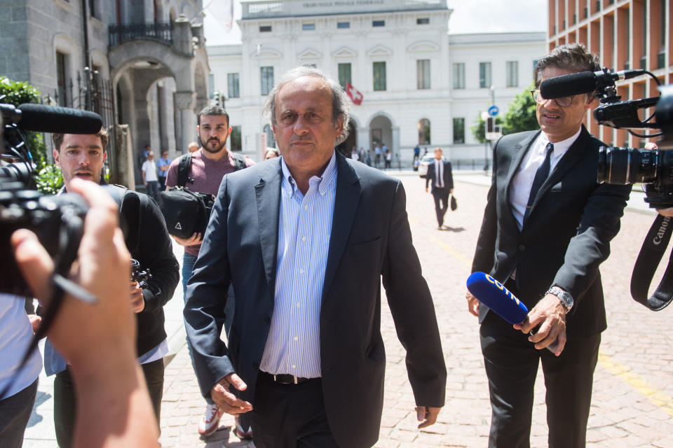
[[[320,377],[320,300],[337,193],[337,157],[303,195],[280,160],[278,255],[271,329],[260,370]]]

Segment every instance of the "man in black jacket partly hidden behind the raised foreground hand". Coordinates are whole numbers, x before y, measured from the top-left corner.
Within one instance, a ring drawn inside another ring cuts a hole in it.
[[[103,163],[107,156],[107,132],[97,134],[52,134],[55,144],[54,159],[61,167],[63,191],[70,193],[74,179],[92,181],[82,188],[105,184]],[[163,306],[170,300],[179,281],[179,265],[172,253],[172,243],[165,228],[163,216],[156,202],[147,195],[122,188],[120,217],[125,221],[125,243],[132,258],[143,269],[151,271],[151,279],[140,288],[130,283],[130,304],[137,321],[135,338],[138,362],[154,406],[156,422],[160,421],[163,395],[163,356],[168,353],[164,329]],[[130,259],[127,260],[130,265]],[[126,283],[130,281],[130,276]],[[127,286],[128,288],[128,286]],[[70,369],[53,349],[50,340],[45,344],[45,371],[56,374],[54,381],[54,423],[56,439],[61,448],[72,445],[72,434],[77,412],[76,393]]]

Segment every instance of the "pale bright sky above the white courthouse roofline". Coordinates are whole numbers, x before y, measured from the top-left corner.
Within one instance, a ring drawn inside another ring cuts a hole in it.
[[[231,31],[221,25],[208,10],[216,13],[224,0],[203,0],[208,6],[203,26],[208,45],[240,43],[240,29],[236,22]],[[492,33],[501,31],[545,31],[547,29],[547,0],[447,0],[453,9],[449,19],[449,33]],[[240,19],[240,1],[234,0],[233,15]]]

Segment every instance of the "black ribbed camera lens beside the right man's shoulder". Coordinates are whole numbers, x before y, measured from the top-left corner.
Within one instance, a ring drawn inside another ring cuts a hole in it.
[[[609,148],[598,151],[598,182],[626,185],[652,183],[657,177],[659,152],[638,148]]]

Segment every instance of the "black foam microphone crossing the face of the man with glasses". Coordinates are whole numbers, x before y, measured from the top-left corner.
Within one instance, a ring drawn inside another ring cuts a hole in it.
[[[645,70],[623,70],[611,73],[608,69],[602,71],[580,71],[569,75],[556,76],[542,81],[540,94],[545,99],[571,97],[573,95],[590,93],[613,85],[615,81],[635,78],[646,73]]]

